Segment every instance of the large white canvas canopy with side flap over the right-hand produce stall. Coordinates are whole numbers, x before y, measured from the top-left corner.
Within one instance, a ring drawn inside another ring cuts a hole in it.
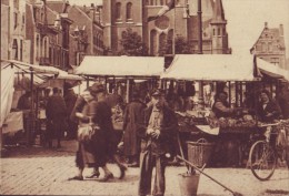
[[[260,68],[259,68],[260,66]],[[193,81],[255,81],[266,71],[283,78],[275,65],[253,55],[177,54],[161,79]],[[258,74],[259,73],[259,74]]]

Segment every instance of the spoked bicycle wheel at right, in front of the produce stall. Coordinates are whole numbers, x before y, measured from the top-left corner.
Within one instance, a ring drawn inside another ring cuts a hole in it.
[[[275,172],[277,157],[273,148],[265,141],[256,142],[249,154],[251,172],[260,180],[268,180]]]

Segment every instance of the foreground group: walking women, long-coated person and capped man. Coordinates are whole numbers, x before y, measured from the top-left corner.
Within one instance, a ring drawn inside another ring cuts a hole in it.
[[[116,140],[111,107],[108,103],[111,99],[107,97],[103,85],[94,83],[76,102],[71,120],[78,120],[79,127],[92,126],[93,133],[88,140],[79,140],[76,155],[79,173],[69,178],[70,180],[82,180],[84,167],[93,168],[92,175],[88,177],[96,177],[99,182],[109,180],[113,177],[107,167],[107,162],[111,157],[121,171],[119,178],[124,176],[127,167],[118,157],[119,141]],[[173,156],[171,143],[178,126],[175,112],[165,104],[163,91],[157,89],[151,92],[148,106],[142,102],[140,93],[134,91],[123,115],[123,136],[120,143],[123,143],[128,166],[140,167],[139,195],[151,193],[153,167],[156,167],[153,195],[163,195],[166,162]],[[99,178],[99,168],[104,172],[102,178]]]

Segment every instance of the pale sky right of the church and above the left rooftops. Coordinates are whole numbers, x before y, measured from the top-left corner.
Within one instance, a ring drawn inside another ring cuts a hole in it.
[[[190,0],[189,0],[190,1]],[[69,0],[70,4],[99,4],[102,0]],[[232,53],[249,52],[265,22],[269,28],[283,24],[286,53],[289,58],[289,0],[222,0],[229,45]]]

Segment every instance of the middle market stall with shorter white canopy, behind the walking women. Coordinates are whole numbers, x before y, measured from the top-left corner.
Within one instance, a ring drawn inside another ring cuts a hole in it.
[[[123,101],[128,103],[132,90],[137,87],[150,90],[158,85],[160,74],[163,72],[163,64],[165,58],[86,55],[74,73],[84,76],[88,85],[89,81],[100,81],[107,85],[108,92],[111,93],[110,89],[114,86],[117,94],[121,95]],[[112,112],[114,128],[122,130],[120,107],[113,106]]]

